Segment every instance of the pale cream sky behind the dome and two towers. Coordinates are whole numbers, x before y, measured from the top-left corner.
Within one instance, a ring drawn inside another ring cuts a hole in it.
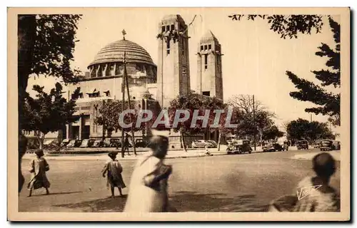
[[[304,111],[313,103],[290,97],[296,90],[286,76],[292,71],[301,78],[318,82],[311,71],[326,68],[326,58],[315,55],[321,43],[334,46],[333,33],[325,17],[321,33],[300,34],[298,38],[283,39],[269,28],[267,21],[231,21],[231,9],[88,9],[79,21],[73,67],[87,71],[94,56],[108,43],[120,40],[125,29],[126,39],[143,46],[154,63],[158,63],[159,22],[166,14],[180,14],[188,27],[191,89],[196,89],[198,41],[209,29],[222,46],[223,98],[232,95],[255,95],[269,110],[276,113],[281,124],[311,114]],[[335,18],[338,21],[338,18]],[[32,85],[45,85],[51,89],[53,78],[31,78]],[[333,90],[333,88],[331,88]],[[312,114],[312,120],[326,122],[327,117]]]

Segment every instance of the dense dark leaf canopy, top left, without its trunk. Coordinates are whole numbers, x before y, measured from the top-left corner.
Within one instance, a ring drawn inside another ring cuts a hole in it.
[[[76,30],[80,15],[76,14],[41,14],[35,18],[36,33],[29,74],[36,76],[54,76],[65,83],[76,80],[78,70],[72,70]],[[21,16],[20,16],[21,17]]]

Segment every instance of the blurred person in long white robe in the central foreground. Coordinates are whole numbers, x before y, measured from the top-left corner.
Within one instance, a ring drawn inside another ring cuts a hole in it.
[[[151,155],[136,163],[124,212],[168,212],[168,179],[171,165],[164,164],[169,147],[168,131],[151,130]]]

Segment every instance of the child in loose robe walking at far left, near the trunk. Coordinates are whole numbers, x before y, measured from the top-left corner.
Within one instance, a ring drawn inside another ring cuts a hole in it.
[[[46,189],[46,195],[49,195],[50,182],[46,177],[46,172],[49,171],[49,163],[44,159],[44,151],[36,150],[36,158],[31,160],[30,169],[31,180],[29,185],[29,197],[32,195],[32,190],[37,190],[41,187]]]

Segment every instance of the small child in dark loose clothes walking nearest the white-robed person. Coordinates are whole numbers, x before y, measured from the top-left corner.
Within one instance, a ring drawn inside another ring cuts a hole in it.
[[[121,167],[118,160],[116,160],[117,152],[109,152],[108,156],[110,160],[104,165],[102,172],[103,177],[106,177],[106,186],[111,188],[111,197],[114,197],[114,189],[118,187],[119,194],[123,197],[123,192],[121,189],[125,188],[123,177],[121,172],[123,172],[123,167]]]

